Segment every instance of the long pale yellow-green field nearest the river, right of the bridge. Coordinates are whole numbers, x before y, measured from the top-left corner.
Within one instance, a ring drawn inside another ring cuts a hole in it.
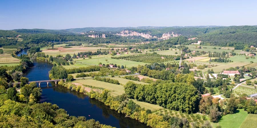
[[[93,79],[75,80],[74,82],[111,90],[111,94],[113,94],[113,96],[118,96],[125,93],[124,87],[118,84],[111,84],[108,82],[102,82]]]

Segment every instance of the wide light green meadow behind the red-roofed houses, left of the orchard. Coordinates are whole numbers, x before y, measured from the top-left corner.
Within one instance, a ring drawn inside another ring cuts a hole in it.
[[[107,62],[105,60],[108,60]],[[100,62],[103,64],[109,64],[109,63],[113,63],[113,64],[117,64],[117,65],[123,65],[125,67],[132,67],[132,66],[137,66],[137,65],[145,65],[148,63],[144,63],[144,62],[136,62],[136,61],[128,61],[128,60],[124,60],[124,59],[112,59],[110,57],[103,57],[103,58],[99,58],[99,59],[84,59],[84,60],[79,60],[77,62],[82,62],[82,63],[88,63],[88,64],[93,64],[93,65],[98,65]]]

